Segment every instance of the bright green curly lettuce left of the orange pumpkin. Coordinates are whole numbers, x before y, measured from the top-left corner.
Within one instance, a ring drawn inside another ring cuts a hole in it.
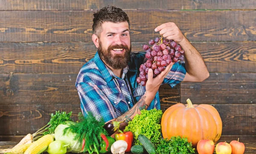
[[[134,144],[141,145],[138,140],[138,135],[143,134],[148,137],[149,140],[157,146],[161,137],[161,125],[162,110],[151,109],[140,111],[140,115],[135,115],[133,120],[125,127],[124,132],[132,132],[134,135]]]

